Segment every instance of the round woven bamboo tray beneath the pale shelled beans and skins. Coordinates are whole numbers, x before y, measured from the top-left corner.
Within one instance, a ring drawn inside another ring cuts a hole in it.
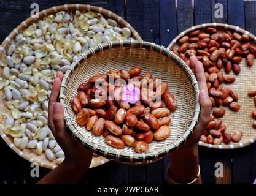
[[[61,6],[55,6],[51,7],[46,10],[42,10],[42,12],[39,12],[39,18],[36,17],[29,17],[25,21],[23,21],[20,25],[18,25],[10,34],[9,36],[4,39],[2,44],[0,45],[0,57],[2,54],[6,51],[6,49],[9,47],[9,43],[12,42],[14,37],[20,33],[23,32],[24,29],[26,29],[29,25],[34,23],[34,21],[40,20],[42,17],[45,17],[46,15],[50,15],[52,13],[60,12],[61,10],[91,10],[93,12],[99,12],[101,13],[104,17],[106,18],[113,18],[118,22],[118,24],[121,27],[127,27],[131,30],[131,33],[133,34],[134,39],[141,40],[141,37],[139,36],[138,32],[135,31],[135,29],[127,23],[125,20],[123,20],[122,17],[116,15],[115,13],[103,9],[102,7],[96,7],[96,6],[90,6],[90,5],[85,5],[85,4],[65,4]],[[0,75],[2,75],[2,67],[0,67]],[[3,92],[0,91],[0,96],[3,97]],[[4,116],[2,116],[2,113],[6,113],[9,111],[9,109],[5,106],[6,100],[0,99],[0,124],[5,122]],[[53,162],[50,162],[42,153],[40,156],[34,153],[30,149],[24,149],[21,151],[19,148],[16,148],[14,146],[14,140],[12,137],[4,134],[2,130],[0,130],[0,135],[2,139],[7,143],[7,145],[10,146],[17,154],[19,154],[21,157],[25,158],[26,160],[29,160],[30,162],[36,163],[41,165],[42,167],[46,168],[55,168],[58,164],[53,160]],[[108,162],[109,159],[106,159],[102,156],[93,156],[93,160],[91,162],[90,168],[91,167],[96,167],[98,165],[104,164]]]

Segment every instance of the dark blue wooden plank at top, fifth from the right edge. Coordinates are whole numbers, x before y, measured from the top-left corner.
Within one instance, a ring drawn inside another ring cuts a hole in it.
[[[194,25],[192,0],[177,1],[178,34]]]

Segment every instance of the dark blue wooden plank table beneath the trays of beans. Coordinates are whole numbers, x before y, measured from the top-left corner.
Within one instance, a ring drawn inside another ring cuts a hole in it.
[[[180,32],[201,23],[221,22],[241,26],[256,34],[256,1],[243,0],[0,0],[0,41],[21,21],[29,17],[31,3],[37,2],[40,10],[60,4],[81,3],[101,6],[122,16],[139,32],[142,39],[168,44]],[[223,18],[214,17],[214,5],[223,4]],[[0,184],[36,183],[31,178],[30,163],[14,153],[0,140]],[[79,183],[166,183],[168,157],[155,164],[121,165],[109,162],[90,169]],[[215,163],[224,165],[224,177],[215,178]],[[204,183],[252,183],[256,178],[256,144],[242,149],[215,150],[200,147],[201,176]],[[40,178],[50,170],[41,168]]]

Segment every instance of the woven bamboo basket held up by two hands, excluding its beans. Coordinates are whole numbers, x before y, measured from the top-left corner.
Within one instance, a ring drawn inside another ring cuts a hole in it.
[[[76,113],[70,106],[77,87],[92,75],[106,73],[107,70],[130,70],[134,66],[142,67],[144,72],[150,70],[155,77],[168,82],[169,91],[177,101],[177,110],[171,113],[171,134],[166,140],[150,143],[147,153],[134,153],[134,149],[128,147],[118,150],[107,145],[103,136],[95,136],[77,124]],[[60,89],[66,126],[74,137],[93,153],[127,164],[154,162],[182,145],[198,121],[198,96],[195,75],[179,56],[155,43],[133,40],[103,43],[85,51],[69,67]]]

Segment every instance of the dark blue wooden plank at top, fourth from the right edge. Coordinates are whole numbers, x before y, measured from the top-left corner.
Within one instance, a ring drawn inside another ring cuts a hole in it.
[[[195,0],[195,25],[211,23],[211,0]]]

